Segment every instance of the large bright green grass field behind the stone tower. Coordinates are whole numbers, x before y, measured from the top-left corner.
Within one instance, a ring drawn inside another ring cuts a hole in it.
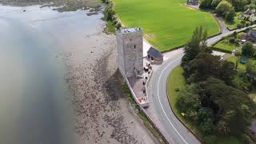
[[[113,0],[125,26],[141,26],[145,38],[159,50],[185,44],[196,26],[210,35],[220,31],[213,15],[185,5],[186,0]]]

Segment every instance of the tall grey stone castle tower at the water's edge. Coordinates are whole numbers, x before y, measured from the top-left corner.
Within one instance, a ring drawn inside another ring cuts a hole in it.
[[[143,34],[141,28],[116,30],[118,68],[126,77],[143,73]]]

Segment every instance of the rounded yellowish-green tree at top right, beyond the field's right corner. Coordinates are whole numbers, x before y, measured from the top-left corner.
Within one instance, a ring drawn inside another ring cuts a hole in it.
[[[219,2],[219,4],[216,7],[215,11],[216,11],[216,14],[218,14],[218,16],[224,17],[232,9],[233,9],[233,6],[231,5],[230,2],[222,1],[222,2]]]

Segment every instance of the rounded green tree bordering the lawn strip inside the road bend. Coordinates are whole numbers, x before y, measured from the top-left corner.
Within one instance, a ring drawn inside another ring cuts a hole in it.
[[[179,92],[178,106],[184,113],[198,111],[201,102],[198,95],[198,88],[195,84],[187,85]]]

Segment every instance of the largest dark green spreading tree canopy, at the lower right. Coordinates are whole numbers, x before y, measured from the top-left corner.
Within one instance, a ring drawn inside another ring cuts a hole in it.
[[[208,78],[202,83],[206,106],[214,110],[218,118],[218,132],[238,134],[246,129],[255,114],[256,106],[241,90],[226,86],[217,78]]]

